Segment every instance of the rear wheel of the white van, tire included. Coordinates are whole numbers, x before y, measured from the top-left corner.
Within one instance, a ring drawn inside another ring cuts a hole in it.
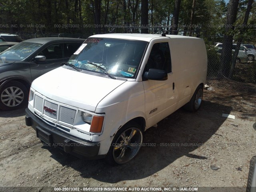
[[[196,88],[196,91],[194,92],[190,101],[184,105],[184,108],[190,112],[196,112],[201,106],[201,103],[203,100],[203,94],[204,94],[203,87],[202,85],[199,85]]]

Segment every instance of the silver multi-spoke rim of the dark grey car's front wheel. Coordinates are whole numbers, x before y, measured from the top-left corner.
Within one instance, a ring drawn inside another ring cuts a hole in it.
[[[8,87],[1,94],[1,101],[8,107],[15,107],[24,100],[24,92],[18,87]]]

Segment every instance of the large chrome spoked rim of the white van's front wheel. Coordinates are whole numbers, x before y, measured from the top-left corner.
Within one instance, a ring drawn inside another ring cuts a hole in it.
[[[128,128],[114,143],[113,158],[116,163],[124,164],[136,156],[142,144],[142,132],[138,128]]]

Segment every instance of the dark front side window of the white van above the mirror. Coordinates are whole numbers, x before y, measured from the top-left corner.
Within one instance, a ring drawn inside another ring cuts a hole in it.
[[[172,72],[171,54],[168,42],[153,45],[145,70],[148,71],[150,68],[165,70],[167,73]]]

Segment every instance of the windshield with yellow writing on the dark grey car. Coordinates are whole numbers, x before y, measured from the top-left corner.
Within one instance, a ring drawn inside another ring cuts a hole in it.
[[[4,57],[4,59],[8,61],[20,61],[24,58],[28,57],[35,50],[40,48],[42,44],[39,43],[31,43],[31,42],[20,42],[4,52],[0,53],[0,58]]]

